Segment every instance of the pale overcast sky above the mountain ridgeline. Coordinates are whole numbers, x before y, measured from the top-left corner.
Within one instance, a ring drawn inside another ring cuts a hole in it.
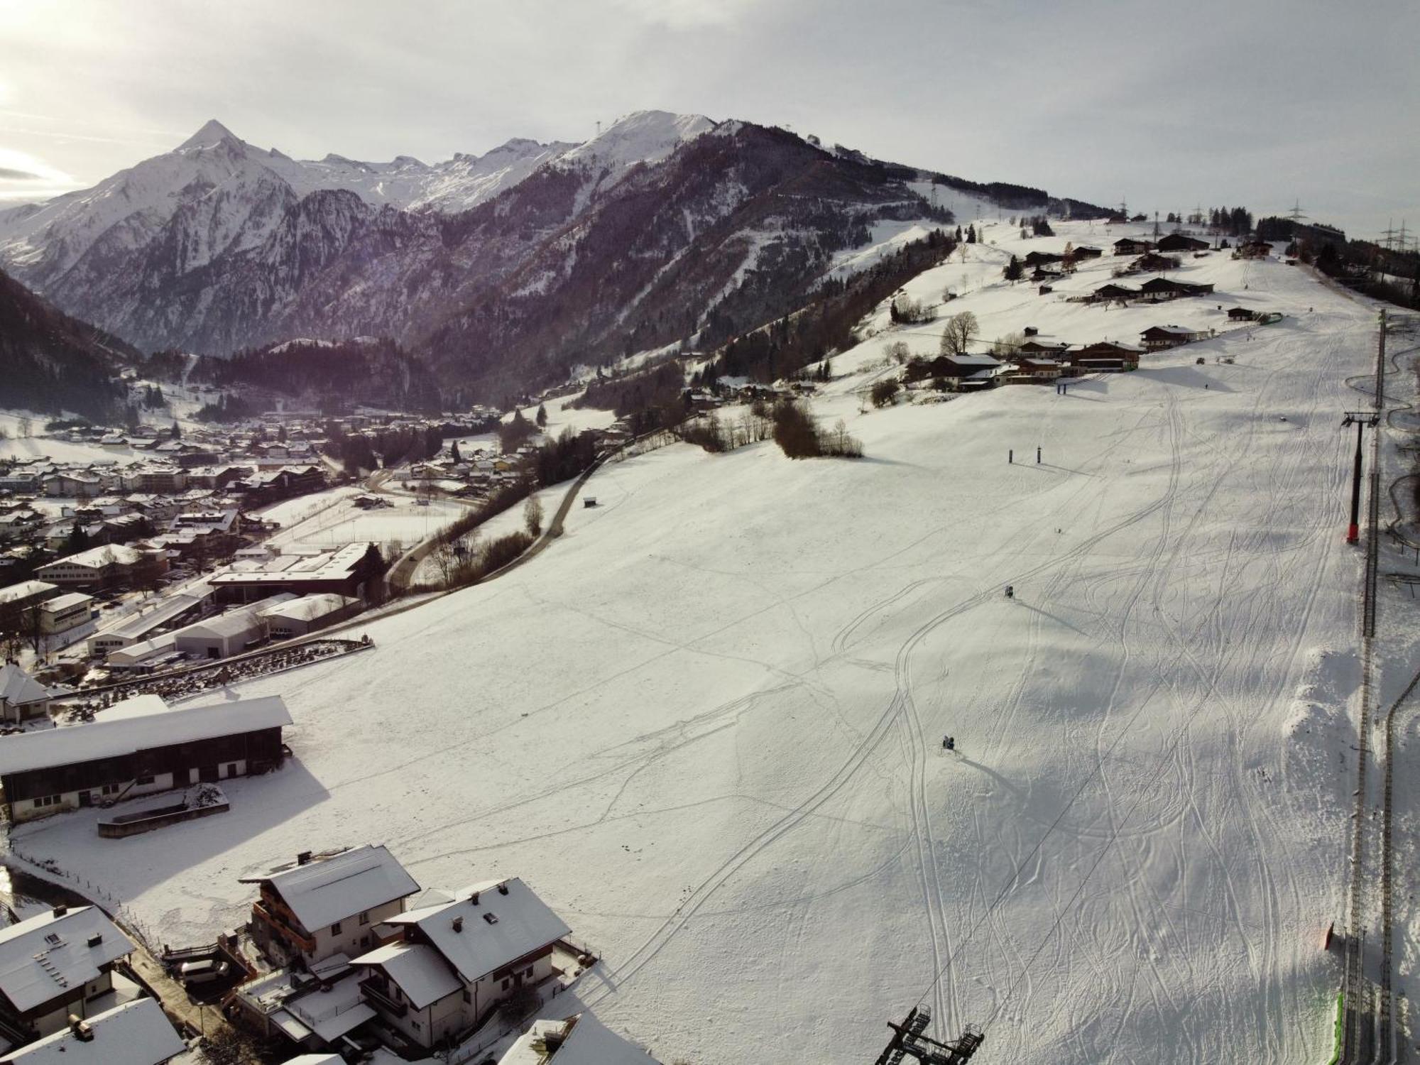
[[[0,0],[0,203],[206,119],[298,158],[582,141],[638,109],[1095,203],[1420,230],[1416,0]]]

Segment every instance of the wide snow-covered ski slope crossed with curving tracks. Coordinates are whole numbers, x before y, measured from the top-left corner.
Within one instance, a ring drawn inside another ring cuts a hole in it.
[[[1214,301],[1086,318],[983,271],[951,310],[1075,342],[1242,293],[1289,317],[1066,396],[863,413],[880,371],[842,378],[816,412],[861,462],[612,463],[531,565],[224,692],[295,720],[285,768],[224,782],[230,814],[99,841],[81,811],[17,845],[170,943],[243,920],[237,878],[307,849],[388,842],[423,886],[523,876],[604,957],[582,1001],[663,1061],[872,1061],[919,997],[939,1037],[987,1025],[983,1064],[1323,1061],[1359,683],[1336,425],[1373,311],[1277,261],[1197,263]]]

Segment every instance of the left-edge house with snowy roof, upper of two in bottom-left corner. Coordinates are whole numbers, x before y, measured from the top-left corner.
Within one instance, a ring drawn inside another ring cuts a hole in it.
[[[133,944],[97,906],[55,906],[0,929],[0,1020],[26,1039],[62,1031],[114,990]]]

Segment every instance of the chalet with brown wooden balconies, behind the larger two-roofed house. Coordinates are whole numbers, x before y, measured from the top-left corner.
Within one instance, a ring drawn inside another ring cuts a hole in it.
[[[257,946],[305,966],[379,946],[375,927],[402,914],[419,890],[389,851],[368,843],[320,858],[305,852],[295,865],[241,883],[260,885],[250,923]]]

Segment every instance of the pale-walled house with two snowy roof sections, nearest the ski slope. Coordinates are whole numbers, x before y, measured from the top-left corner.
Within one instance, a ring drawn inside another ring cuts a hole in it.
[[[523,880],[494,880],[443,895],[389,919],[396,941],[356,957],[365,1000],[420,1047],[483,1022],[518,990],[559,976],[554,953],[575,961],[569,929]]]

